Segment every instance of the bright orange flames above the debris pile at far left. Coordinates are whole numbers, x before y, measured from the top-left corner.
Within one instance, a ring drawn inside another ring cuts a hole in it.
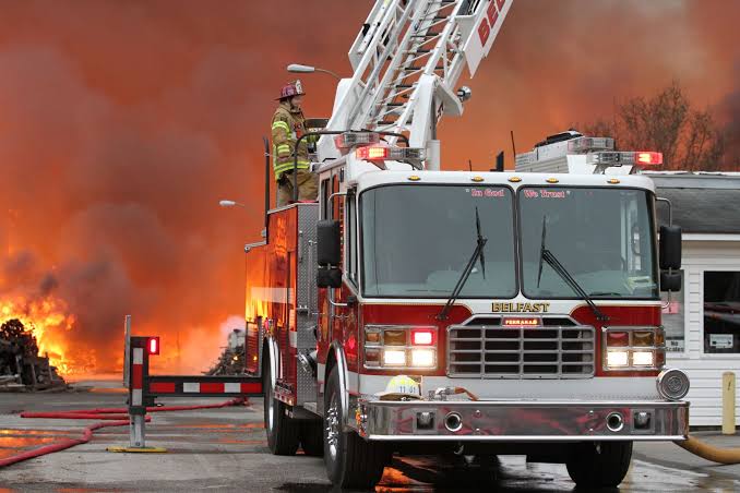
[[[71,348],[68,333],[74,328],[75,317],[63,300],[48,296],[28,300],[17,296],[0,300],[0,324],[17,318],[38,344],[39,354],[48,356],[49,363],[61,375],[87,373],[95,368],[95,352]]]

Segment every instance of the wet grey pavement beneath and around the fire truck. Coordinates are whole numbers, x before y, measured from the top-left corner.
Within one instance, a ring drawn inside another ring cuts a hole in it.
[[[19,412],[121,407],[116,384],[83,383],[88,392],[0,394],[0,458],[64,437],[76,437],[88,421],[22,419]],[[214,399],[162,399],[165,405],[213,404]],[[270,454],[262,401],[246,407],[153,414],[147,444],[164,454],[116,454],[106,447],[128,444],[128,429],[107,428],[93,440],[63,452],[0,469],[4,492],[327,492],[321,458]],[[740,447],[739,436],[717,432],[695,436],[718,446]],[[378,492],[574,491],[563,465],[527,464],[522,456],[499,458],[497,479],[481,481],[440,457],[396,457]],[[740,490],[740,466],[718,466],[672,443],[636,444],[632,467],[619,491]]]

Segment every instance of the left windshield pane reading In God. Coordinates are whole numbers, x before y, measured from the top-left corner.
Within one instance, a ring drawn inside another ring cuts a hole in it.
[[[447,298],[476,248],[461,298],[516,294],[513,199],[505,187],[392,185],[360,196],[362,291],[369,297]]]

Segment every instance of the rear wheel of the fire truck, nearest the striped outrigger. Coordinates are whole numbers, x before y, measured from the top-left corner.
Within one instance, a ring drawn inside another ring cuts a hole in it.
[[[275,398],[270,357],[264,358],[262,377],[264,378],[264,428],[267,431],[270,452],[274,455],[294,455],[298,450],[299,428],[298,423],[285,413],[285,404]]]

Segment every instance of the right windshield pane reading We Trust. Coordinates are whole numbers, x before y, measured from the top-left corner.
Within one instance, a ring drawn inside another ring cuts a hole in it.
[[[657,299],[652,200],[643,190],[518,191],[523,291],[582,298],[548,262],[549,251],[590,298]]]

